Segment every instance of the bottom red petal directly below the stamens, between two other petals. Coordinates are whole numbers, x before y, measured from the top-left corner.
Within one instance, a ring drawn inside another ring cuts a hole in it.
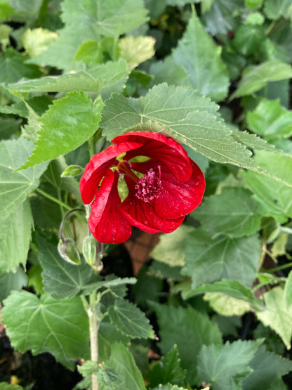
[[[125,178],[129,188],[129,195],[121,207],[129,222],[133,226],[144,230],[147,233],[171,233],[183,223],[185,216],[175,219],[161,218],[152,204],[146,203],[135,196],[135,183]]]

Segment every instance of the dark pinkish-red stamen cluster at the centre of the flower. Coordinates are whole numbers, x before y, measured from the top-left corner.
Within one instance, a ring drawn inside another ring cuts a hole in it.
[[[160,165],[157,167],[157,169],[158,173],[156,173],[153,168],[150,168],[149,171],[147,171],[147,174],[142,176],[138,183],[135,184],[135,196],[138,197],[138,199],[149,203],[150,200],[153,200],[154,197],[157,196],[157,193],[161,188]]]

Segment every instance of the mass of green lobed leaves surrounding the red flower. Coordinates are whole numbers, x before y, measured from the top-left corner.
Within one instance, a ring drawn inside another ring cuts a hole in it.
[[[2,321],[23,356],[86,360],[79,384],[51,386],[291,386],[291,20],[290,0],[0,0]],[[89,158],[129,129],[183,143],[206,194],[137,278],[112,246],[98,275],[83,214],[66,230],[80,265],[58,229]],[[10,373],[1,389],[44,389]]]

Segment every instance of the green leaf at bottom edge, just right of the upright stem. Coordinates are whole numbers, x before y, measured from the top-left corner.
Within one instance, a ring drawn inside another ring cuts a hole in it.
[[[142,374],[126,346],[114,344],[110,359],[106,363],[124,379],[124,384],[119,386],[119,390],[146,390]]]

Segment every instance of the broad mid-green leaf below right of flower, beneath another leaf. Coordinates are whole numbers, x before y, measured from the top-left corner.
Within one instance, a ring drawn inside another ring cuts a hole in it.
[[[233,279],[250,286],[260,261],[260,241],[246,238],[212,237],[203,228],[187,236],[183,275],[192,278],[192,287],[215,280]]]

